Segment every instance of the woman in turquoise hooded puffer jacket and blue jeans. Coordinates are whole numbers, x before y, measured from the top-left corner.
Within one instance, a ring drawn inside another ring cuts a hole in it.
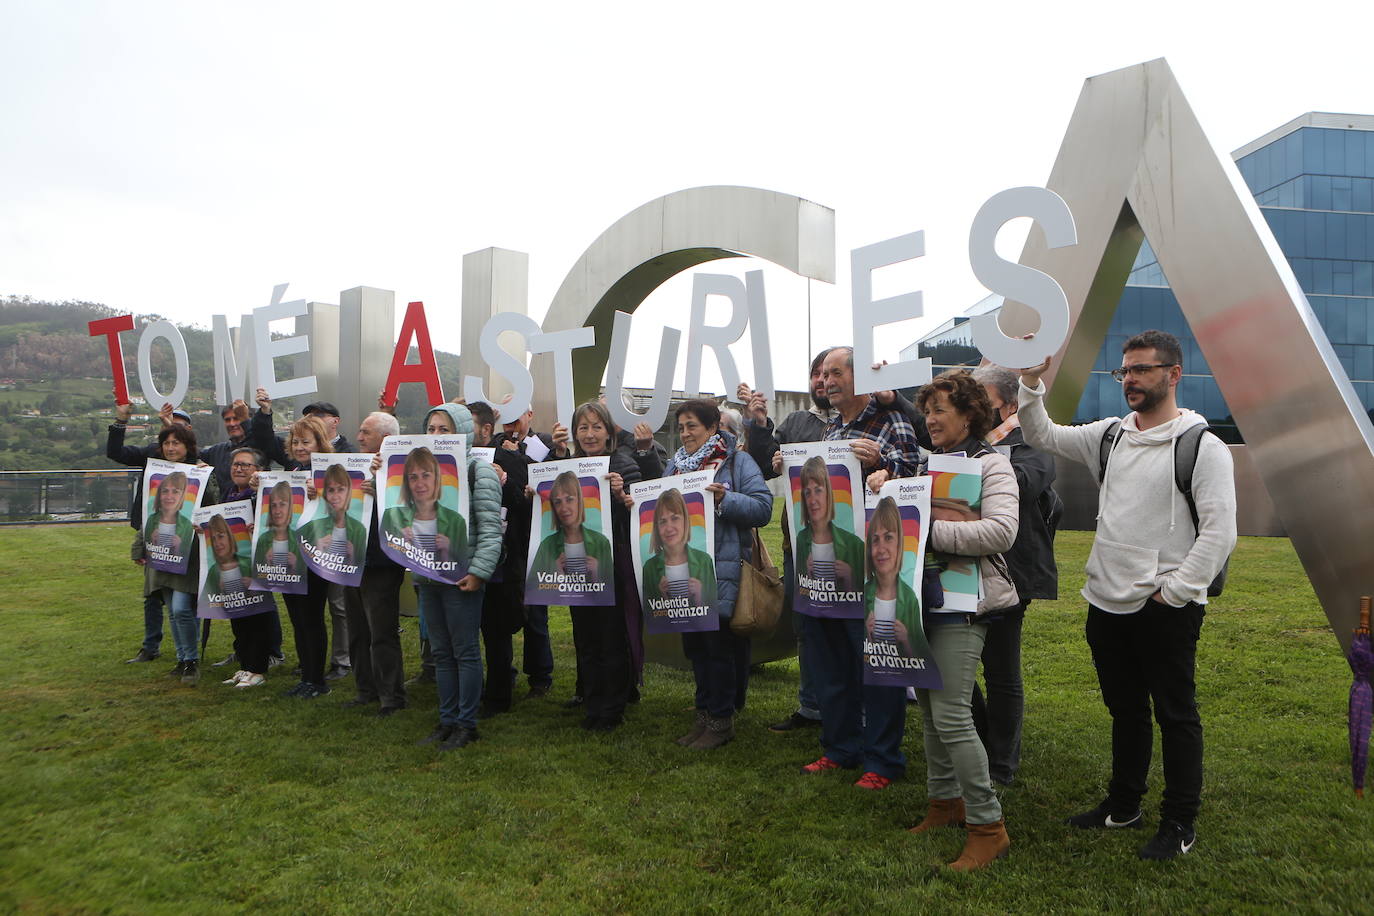
[[[459,404],[441,404],[426,415],[425,430],[431,435],[466,435],[471,442],[473,415]],[[480,737],[482,597],[502,556],[500,478],[489,461],[471,455],[467,468],[473,485],[467,494],[467,544],[458,553],[467,560],[467,575],[458,585],[415,577],[438,683],[438,725],[420,744],[437,743],[441,751],[466,747]]]

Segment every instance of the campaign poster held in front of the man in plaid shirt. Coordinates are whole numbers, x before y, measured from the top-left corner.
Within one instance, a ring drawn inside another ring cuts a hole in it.
[[[796,558],[793,610],[861,619],[863,471],[848,439],[782,446]]]

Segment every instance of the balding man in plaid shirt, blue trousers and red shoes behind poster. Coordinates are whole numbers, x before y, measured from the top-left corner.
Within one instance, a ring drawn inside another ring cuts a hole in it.
[[[826,397],[838,411],[826,427],[826,439],[852,439],[851,448],[864,475],[914,477],[921,446],[911,422],[871,394],[855,394],[852,347],[831,350],[822,365]],[[864,621],[802,617],[804,665],[815,676],[820,705],[820,759],[804,773],[853,769],[863,765],[860,788],[886,788],[907,768],[901,753],[907,695],[901,688],[864,687]]]

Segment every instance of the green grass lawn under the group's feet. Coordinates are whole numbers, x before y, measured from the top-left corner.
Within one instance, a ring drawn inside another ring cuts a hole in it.
[[[815,733],[764,726],[796,702],[796,662],[754,678],[739,737],[709,754],[686,731],[691,680],[650,666],[609,736],[561,709],[572,637],[554,612],[555,688],[438,755],[433,688],[379,721],[290,685],[234,691],[124,665],[142,639],[126,526],[0,531],[0,908],[21,912],[1369,912],[1374,798],[1349,787],[1349,672],[1290,545],[1242,538],[1198,650],[1206,790],[1198,845],[1171,862],[1150,831],[1072,831],[1103,795],[1107,715],[1077,591],[1090,536],[1059,536],[1058,603],[1025,628],[1026,725],[1003,792],[1010,858],[940,864],[955,831],[925,809],[919,711],[910,777],[883,792],[802,776]],[[43,571],[52,566],[56,575]],[[283,614],[284,618],[284,614]],[[519,637],[517,637],[518,640]],[[164,643],[170,650],[170,636]],[[290,636],[287,636],[287,654]],[[407,621],[407,662],[415,662]],[[209,654],[228,652],[217,625]],[[518,654],[518,650],[517,650]],[[220,669],[212,669],[220,670]],[[280,670],[280,669],[278,669]],[[227,676],[225,672],[224,676]],[[1158,757],[1158,755],[1156,755]]]

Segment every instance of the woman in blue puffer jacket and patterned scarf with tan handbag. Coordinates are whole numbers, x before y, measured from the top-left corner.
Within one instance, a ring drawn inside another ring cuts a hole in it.
[[[735,711],[745,706],[749,687],[749,639],[735,636],[730,618],[739,595],[739,564],[753,555],[753,529],[772,520],[772,493],[758,466],[720,428],[720,408],[712,401],[677,407],[682,448],[668,461],[664,477],[714,470],[708,488],[716,499],[716,612],[720,629],[683,633],[683,652],[697,680],[697,722],[677,739],[697,750],[720,747],[735,737]]]

